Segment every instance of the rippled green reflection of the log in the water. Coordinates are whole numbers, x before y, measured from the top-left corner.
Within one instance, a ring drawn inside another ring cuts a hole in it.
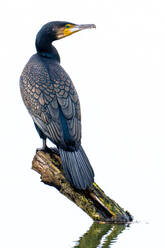
[[[74,248],[108,248],[117,241],[118,235],[128,225],[99,224],[94,222],[90,229],[80,238]]]

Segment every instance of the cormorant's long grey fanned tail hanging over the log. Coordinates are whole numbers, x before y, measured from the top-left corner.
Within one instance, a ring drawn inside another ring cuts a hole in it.
[[[94,182],[94,172],[82,148],[65,151],[59,148],[64,173],[67,180],[77,189],[86,189]]]

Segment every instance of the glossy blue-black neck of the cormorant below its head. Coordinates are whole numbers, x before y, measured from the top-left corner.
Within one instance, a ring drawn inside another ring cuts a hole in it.
[[[57,49],[52,45],[52,41],[46,37],[36,38],[37,53],[43,57],[54,58],[60,63],[60,56]]]

